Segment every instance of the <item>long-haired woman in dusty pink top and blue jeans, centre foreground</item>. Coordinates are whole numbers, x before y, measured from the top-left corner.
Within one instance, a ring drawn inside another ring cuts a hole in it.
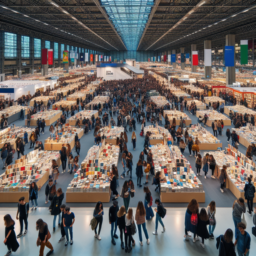
[[[135,214],[135,220],[137,223],[138,227],[138,232],[139,232],[139,243],[142,246],[142,232],[141,232],[141,226],[143,228],[143,232],[145,234],[145,237],[147,239],[147,244],[149,245],[149,235],[147,234],[147,229],[146,229],[146,210],[145,207],[142,203],[142,201],[138,202],[137,209],[136,209],[136,214]]]

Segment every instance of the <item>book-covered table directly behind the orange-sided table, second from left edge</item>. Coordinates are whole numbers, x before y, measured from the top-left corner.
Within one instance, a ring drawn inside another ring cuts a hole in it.
[[[31,115],[30,125],[37,126],[36,121],[38,120],[38,118],[42,118],[42,120],[45,119],[46,126],[49,126],[49,125],[53,124],[55,121],[57,121],[58,118],[60,118],[61,114],[62,114],[62,111],[60,111],[60,110],[40,111],[40,112],[36,113],[35,115]]]

